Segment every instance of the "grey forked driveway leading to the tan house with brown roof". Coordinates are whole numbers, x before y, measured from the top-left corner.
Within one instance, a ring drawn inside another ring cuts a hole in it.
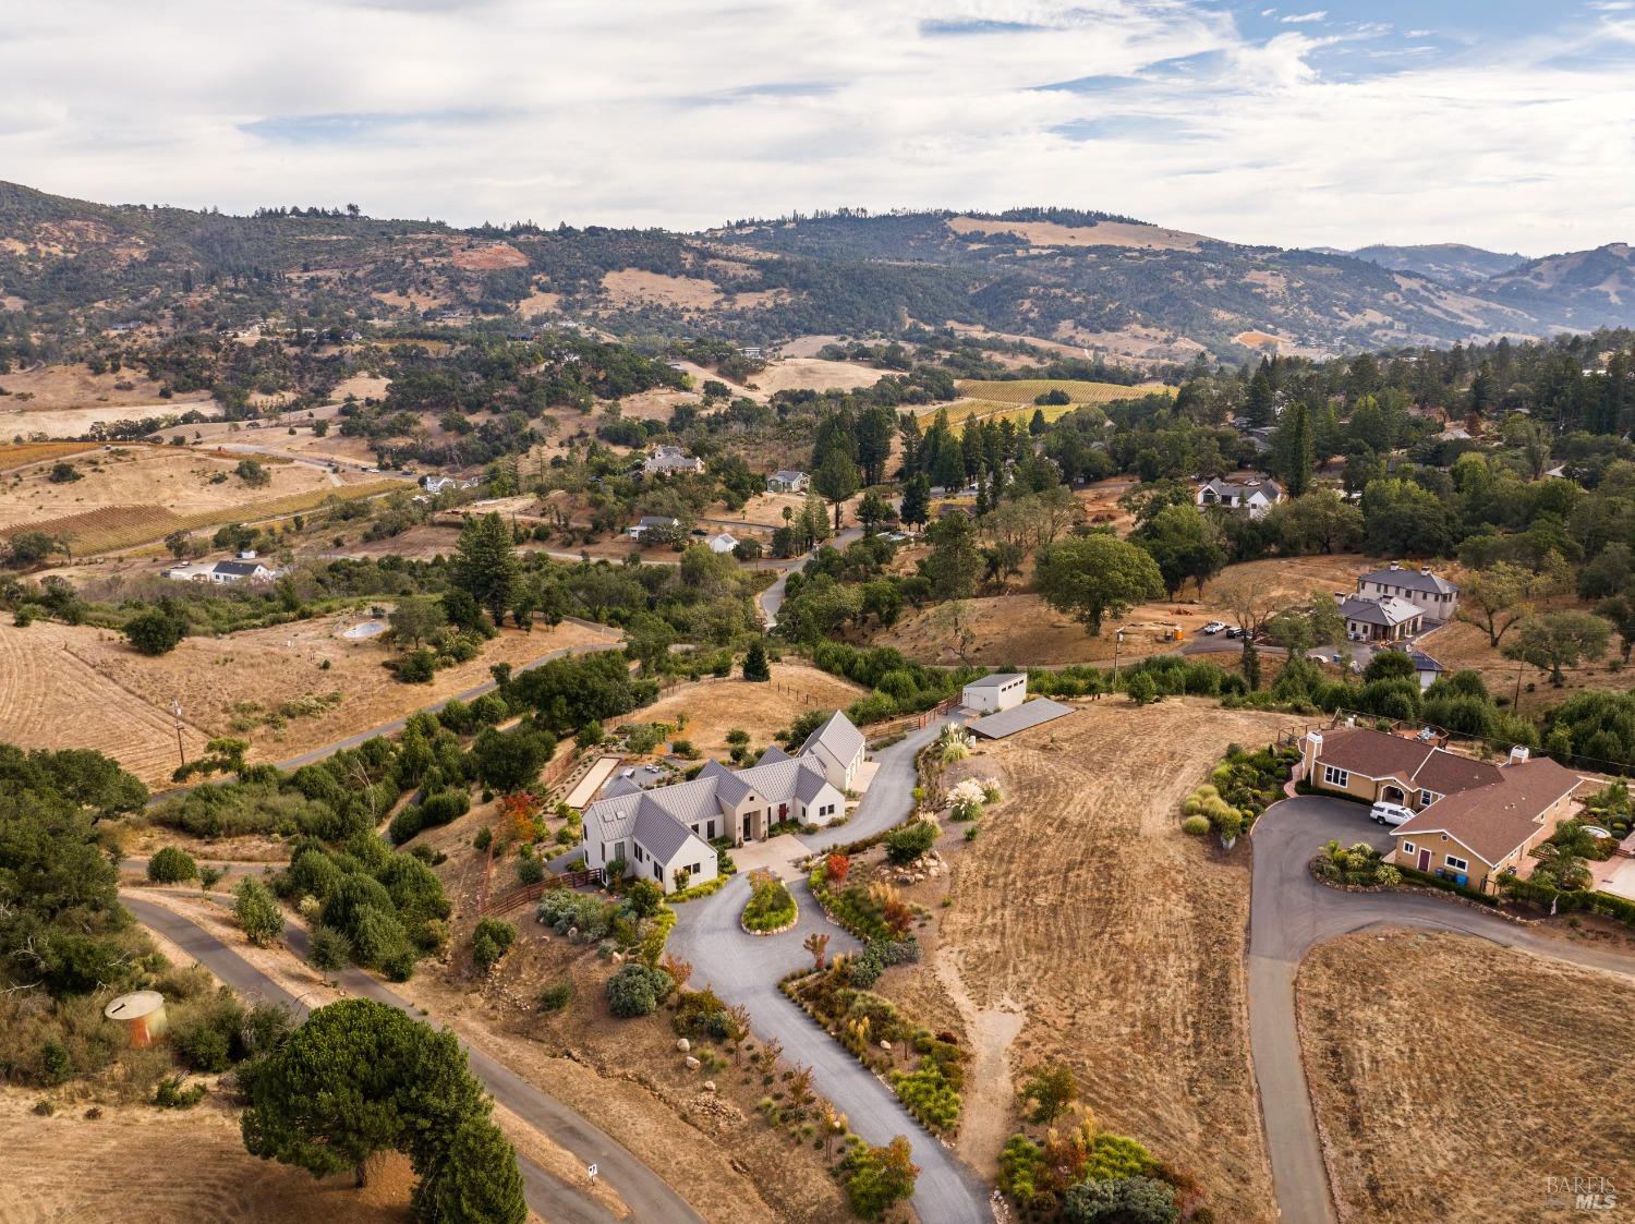
[[[1391,845],[1368,809],[1344,799],[1301,796],[1256,820],[1249,910],[1249,1046],[1261,1090],[1272,1185],[1283,1219],[1333,1224],[1328,1170],[1295,1023],[1295,972],[1319,943],[1370,927],[1424,927],[1475,935],[1507,948],[1589,969],[1635,974],[1635,958],[1542,935],[1427,892],[1341,892],[1319,884],[1306,864],[1324,842]]]

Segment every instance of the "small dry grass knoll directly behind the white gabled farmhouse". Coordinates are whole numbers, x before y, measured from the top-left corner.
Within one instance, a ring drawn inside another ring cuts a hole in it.
[[[693,742],[706,757],[728,753],[726,734],[734,727],[747,730],[755,748],[772,744],[772,732],[806,709],[844,709],[863,696],[857,685],[819,672],[804,663],[777,663],[772,683],[746,680],[700,680],[680,685],[629,716],[639,722],[675,722],[687,714],[682,739]]]

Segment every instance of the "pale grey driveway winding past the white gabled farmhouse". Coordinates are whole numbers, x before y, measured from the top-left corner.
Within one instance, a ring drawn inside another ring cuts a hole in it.
[[[912,806],[914,755],[942,729],[934,719],[924,729],[878,753],[880,770],[852,819],[840,829],[801,833],[811,851],[845,845],[898,824]],[[742,1003],[754,1016],[764,1041],[783,1043],[785,1057],[811,1064],[813,1088],[845,1115],[850,1128],[871,1144],[906,1134],[914,1146],[921,1175],[914,1208],[927,1224],[992,1224],[988,1185],[960,1162],[937,1137],[903,1108],[896,1093],[853,1059],[839,1041],[824,1033],[801,1008],[778,990],[778,979],[811,963],[801,943],[813,931],[829,936],[829,954],[855,951],[858,943],[831,923],[804,881],[791,889],[800,905],[795,930],[759,936],[739,925],[749,897],[749,882],[734,879],[710,897],[677,907],[670,951],[693,964],[693,981],[708,984],[729,1003]]]

